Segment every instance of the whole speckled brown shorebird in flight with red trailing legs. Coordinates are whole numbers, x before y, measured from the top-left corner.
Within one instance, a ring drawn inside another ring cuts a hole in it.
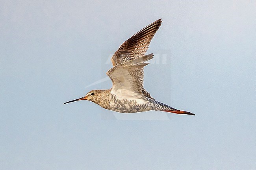
[[[156,101],[143,88],[144,67],[153,54],[145,55],[148,46],[162,20],[156,20],[126,40],[111,58],[113,68],[107,71],[113,86],[108,90],[91,90],[84,97],[66,103],[87,100],[102,108],[120,113],[136,113],[159,110],[176,114],[195,115],[194,113],[177,110],[167,104]]]

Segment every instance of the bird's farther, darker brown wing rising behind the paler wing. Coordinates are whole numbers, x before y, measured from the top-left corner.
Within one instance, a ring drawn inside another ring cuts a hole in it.
[[[112,56],[113,66],[144,56],[161,22],[161,19],[156,20],[126,40]]]

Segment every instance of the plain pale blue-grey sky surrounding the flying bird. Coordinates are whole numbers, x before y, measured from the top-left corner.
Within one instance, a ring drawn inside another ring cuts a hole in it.
[[[256,169],[256,1],[1,1],[0,169]],[[64,102],[155,20],[145,89],[196,116]],[[158,59],[157,59],[158,58]]]

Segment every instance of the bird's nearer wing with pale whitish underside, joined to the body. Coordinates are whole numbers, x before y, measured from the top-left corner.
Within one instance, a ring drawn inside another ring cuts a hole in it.
[[[112,80],[113,87],[111,93],[118,98],[127,99],[135,97],[137,99],[143,97],[143,77],[139,74],[141,70],[149,63],[143,63],[153,58],[153,54],[136,58],[127,62],[123,62],[109,69],[108,77]]]

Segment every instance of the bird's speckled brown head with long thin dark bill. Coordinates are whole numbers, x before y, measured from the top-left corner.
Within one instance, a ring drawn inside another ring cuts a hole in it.
[[[87,100],[87,101],[92,101],[96,104],[99,104],[100,101],[102,100],[102,95],[105,90],[91,90],[89,93],[87,93],[84,97],[81,97],[79,99],[75,99],[72,101],[65,102],[64,104],[70,103],[70,102],[75,102],[75,101],[81,101],[81,100]]]

